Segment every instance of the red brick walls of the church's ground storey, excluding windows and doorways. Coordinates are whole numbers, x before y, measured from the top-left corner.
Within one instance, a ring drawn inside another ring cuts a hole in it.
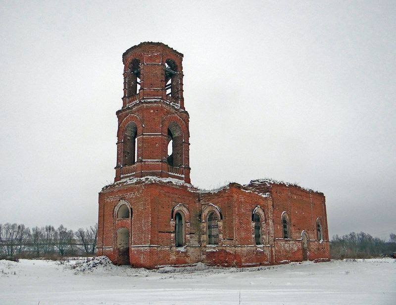
[[[155,268],[160,265],[183,265],[202,261],[225,266],[252,266],[302,260],[301,231],[310,238],[308,258],[328,258],[327,228],[325,240],[316,238],[316,217],[323,217],[324,197],[293,188],[274,186],[273,199],[256,194],[239,184],[230,184],[214,193],[201,193],[187,185],[150,182],[119,186],[99,194],[99,254],[117,262],[115,248],[118,228],[130,229],[130,262],[133,266]],[[132,207],[132,220],[116,220],[114,207],[125,200]],[[184,248],[175,247],[172,209],[179,203],[188,210],[185,218]],[[220,209],[222,238],[218,246],[206,246],[206,223],[202,212]],[[255,245],[252,211],[260,206],[265,213],[263,245]],[[281,214],[291,218],[291,239],[282,236]],[[273,215],[275,215],[273,217]],[[315,221],[315,225],[312,223]],[[324,224],[323,224],[324,225]],[[113,249],[101,247],[114,247]]]

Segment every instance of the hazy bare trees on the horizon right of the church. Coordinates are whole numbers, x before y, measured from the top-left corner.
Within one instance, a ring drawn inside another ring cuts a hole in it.
[[[364,232],[335,235],[330,241],[330,255],[333,259],[390,256],[394,252],[396,252],[394,233],[390,234],[388,241]]]

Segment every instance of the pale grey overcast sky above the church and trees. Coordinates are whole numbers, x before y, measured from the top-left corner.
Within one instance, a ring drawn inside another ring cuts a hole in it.
[[[121,55],[155,41],[184,54],[194,185],[298,183],[330,235],[396,233],[395,1],[1,2],[0,223],[97,222]]]

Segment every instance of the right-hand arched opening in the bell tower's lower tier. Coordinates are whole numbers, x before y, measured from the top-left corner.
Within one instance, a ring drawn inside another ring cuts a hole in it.
[[[170,166],[183,165],[183,134],[180,126],[172,122],[168,127],[168,164]]]

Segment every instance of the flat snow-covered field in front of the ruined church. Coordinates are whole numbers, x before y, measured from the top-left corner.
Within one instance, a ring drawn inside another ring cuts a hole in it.
[[[396,259],[259,268],[0,260],[0,304],[396,304]]]

